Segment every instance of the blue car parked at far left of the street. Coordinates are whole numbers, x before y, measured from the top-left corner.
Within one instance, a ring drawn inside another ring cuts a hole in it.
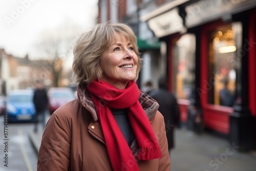
[[[7,95],[8,122],[33,122],[35,107],[32,90],[13,90]]]

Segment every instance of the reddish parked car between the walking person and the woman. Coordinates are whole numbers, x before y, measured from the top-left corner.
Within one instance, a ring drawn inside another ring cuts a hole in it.
[[[48,99],[48,110],[52,114],[61,105],[76,99],[76,97],[70,88],[50,88]]]

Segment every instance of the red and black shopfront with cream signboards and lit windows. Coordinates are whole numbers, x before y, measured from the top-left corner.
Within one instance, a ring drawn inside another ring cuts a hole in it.
[[[166,42],[169,91],[178,97],[181,120],[190,122],[190,112],[196,110],[205,130],[238,144],[241,151],[254,149],[256,2],[184,1],[168,6],[144,20]]]

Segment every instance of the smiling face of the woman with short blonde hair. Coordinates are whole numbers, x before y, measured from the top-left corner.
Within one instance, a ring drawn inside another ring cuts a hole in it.
[[[129,81],[136,78],[137,66],[138,56],[131,41],[118,33],[116,41],[101,55],[102,79],[118,89],[124,89]]]

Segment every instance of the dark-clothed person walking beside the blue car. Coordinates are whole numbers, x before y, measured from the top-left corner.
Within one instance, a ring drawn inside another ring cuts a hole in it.
[[[34,132],[37,133],[39,122],[42,122],[42,130],[45,129],[46,110],[48,104],[47,91],[41,80],[36,80],[36,89],[34,90],[33,103],[36,111]]]

